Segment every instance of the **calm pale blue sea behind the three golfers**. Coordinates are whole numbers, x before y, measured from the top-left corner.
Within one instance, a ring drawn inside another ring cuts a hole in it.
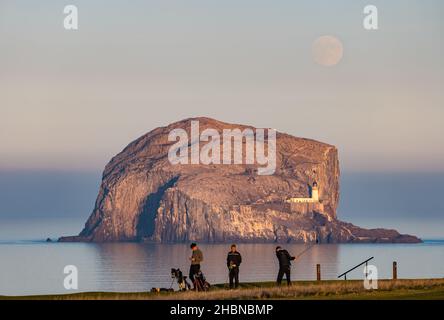
[[[172,267],[188,273],[187,244],[46,243],[41,237],[43,230],[45,236],[75,234],[79,231],[79,221],[50,219],[30,223],[23,220],[0,224],[0,295],[69,293],[63,287],[66,265],[78,268],[77,291],[146,291],[152,287],[170,287]],[[229,244],[200,247],[207,279],[210,283],[226,282]],[[285,247],[297,255],[307,246]],[[239,244],[244,261],[241,281],[274,280],[277,272],[274,248],[274,244]],[[292,276],[295,280],[315,279],[315,266],[319,263],[323,279],[336,279],[369,257],[374,257],[371,264],[378,268],[379,278],[391,277],[393,261],[398,263],[400,278],[444,277],[442,240],[422,244],[316,245],[294,263]],[[348,276],[350,279],[362,277],[362,268]],[[175,284],[173,287],[177,288]]]

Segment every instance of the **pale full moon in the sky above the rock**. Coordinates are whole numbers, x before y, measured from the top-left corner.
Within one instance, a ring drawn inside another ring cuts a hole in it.
[[[317,38],[312,45],[314,61],[326,67],[337,65],[344,54],[342,42],[333,36],[322,36]]]

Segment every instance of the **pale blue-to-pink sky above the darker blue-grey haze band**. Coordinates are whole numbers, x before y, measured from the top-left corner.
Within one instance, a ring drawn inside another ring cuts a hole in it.
[[[80,29],[63,29],[63,7]],[[362,28],[379,9],[380,29]],[[0,170],[101,171],[191,116],[336,145],[345,171],[444,171],[444,2],[0,1]],[[334,35],[339,65],[311,44]]]

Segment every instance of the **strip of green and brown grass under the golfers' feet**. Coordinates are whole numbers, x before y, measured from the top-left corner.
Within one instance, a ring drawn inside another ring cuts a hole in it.
[[[85,292],[45,296],[0,296],[32,300],[246,300],[246,299],[438,299],[444,300],[444,279],[379,280],[377,290],[366,290],[360,280],[298,281],[276,287],[273,282],[245,283],[227,290],[215,285],[209,292]]]

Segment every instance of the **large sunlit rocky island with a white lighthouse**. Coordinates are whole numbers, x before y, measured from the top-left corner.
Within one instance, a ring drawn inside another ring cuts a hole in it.
[[[172,164],[175,142],[168,135],[176,128],[190,132],[192,121],[200,131],[254,129],[194,118],[133,141],[107,164],[84,229],[59,241],[421,241],[337,219],[339,161],[332,145],[278,132],[272,175],[259,175],[257,163]]]

